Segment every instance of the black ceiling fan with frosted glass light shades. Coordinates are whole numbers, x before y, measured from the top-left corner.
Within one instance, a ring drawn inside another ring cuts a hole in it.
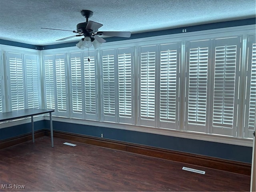
[[[70,37],[58,39],[56,41],[67,40],[73,37],[84,36],[82,40],[80,40],[76,46],[80,49],[89,48],[90,46],[94,46],[94,49],[99,48],[99,46],[106,42],[105,39],[101,38],[100,36],[115,36],[115,37],[130,37],[131,32],[122,32],[122,31],[98,31],[103,24],[89,21],[93,15],[93,12],[90,10],[81,10],[82,16],[86,18],[86,22],[78,23],[76,25],[76,30],[73,30],[73,33],[77,33],[77,35],[73,35]],[[62,30],[62,29],[52,29],[52,28],[42,28],[42,29],[51,29],[51,30]],[[71,31],[71,30],[62,30],[62,31]]]

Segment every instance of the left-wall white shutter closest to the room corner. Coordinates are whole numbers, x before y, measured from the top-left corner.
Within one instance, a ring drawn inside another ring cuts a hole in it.
[[[38,57],[24,55],[26,67],[26,108],[39,108],[39,72]]]

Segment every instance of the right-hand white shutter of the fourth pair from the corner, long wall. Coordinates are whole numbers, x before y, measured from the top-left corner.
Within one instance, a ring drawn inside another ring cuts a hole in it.
[[[180,44],[160,45],[160,127],[178,128]]]

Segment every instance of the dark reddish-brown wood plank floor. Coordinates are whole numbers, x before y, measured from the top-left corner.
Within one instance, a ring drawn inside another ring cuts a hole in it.
[[[52,148],[50,138],[44,136],[34,144],[30,141],[0,150],[0,191],[250,190],[249,176],[64,142],[68,141],[54,138]],[[183,166],[206,174],[184,171]]]

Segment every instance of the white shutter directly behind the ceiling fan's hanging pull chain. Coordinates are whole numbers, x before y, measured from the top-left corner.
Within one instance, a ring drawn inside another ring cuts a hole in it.
[[[90,120],[97,120],[98,105],[97,105],[95,51],[89,52],[89,56],[90,56],[90,62],[88,62],[88,52],[84,52],[85,118]]]

